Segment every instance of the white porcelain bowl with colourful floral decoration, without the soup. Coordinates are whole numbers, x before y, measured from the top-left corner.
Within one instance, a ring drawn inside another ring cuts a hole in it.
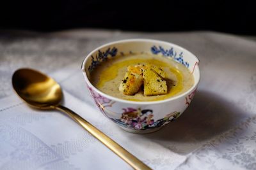
[[[188,67],[194,85],[179,96],[161,101],[127,101],[104,94],[90,82],[90,73],[100,62],[127,53],[150,53],[170,57]],[[134,133],[154,132],[177,119],[191,103],[200,80],[199,60],[188,50],[172,43],[153,39],[125,39],[102,45],[84,59],[82,71],[90,95],[96,106],[109,120],[125,131]]]

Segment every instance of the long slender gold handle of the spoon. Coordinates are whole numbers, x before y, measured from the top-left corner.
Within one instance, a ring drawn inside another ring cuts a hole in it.
[[[57,110],[63,111],[64,113],[67,113],[68,116],[70,116],[73,120],[75,120],[79,125],[81,125],[86,131],[90,132],[95,138],[97,138],[100,142],[102,142],[104,145],[106,145],[110,150],[112,150],[118,157],[125,160],[132,168],[134,169],[150,169],[146,164],[141,162],[138,158],[134,157],[131,153],[129,153],[127,150],[125,150],[122,146],[118,145],[115,141],[113,141],[111,138],[106,136],[103,132],[99,131],[96,127],[94,127],[92,124],[84,120],[82,117],[77,115],[74,111],[58,105],[56,106]]]

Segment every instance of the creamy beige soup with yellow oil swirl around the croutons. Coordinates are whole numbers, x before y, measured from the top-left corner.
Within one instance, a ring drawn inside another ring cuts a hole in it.
[[[166,78],[173,80],[173,83],[167,83],[168,93],[157,96],[143,96],[143,90],[141,89],[134,96],[122,94],[118,87],[122,83],[127,67],[136,66],[137,64],[151,64],[163,68]],[[90,81],[105,94],[129,101],[159,101],[167,99],[186,92],[194,84],[193,75],[188,68],[173,59],[148,53],[131,54],[106,60],[93,69]]]

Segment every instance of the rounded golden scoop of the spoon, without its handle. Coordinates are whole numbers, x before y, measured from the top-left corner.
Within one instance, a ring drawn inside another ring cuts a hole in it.
[[[60,85],[51,77],[33,69],[19,69],[12,76],[13,89],[30,106],[51,109],[60,103]]]

